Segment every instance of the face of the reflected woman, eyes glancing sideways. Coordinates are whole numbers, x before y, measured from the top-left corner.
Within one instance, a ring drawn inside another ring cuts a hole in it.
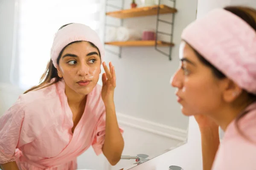
[[[63,77],[66,88],[87,95],[99,80],[100,67],[101,59],[96,48],[86,41],[74,42],[61,54],[58,76]]]

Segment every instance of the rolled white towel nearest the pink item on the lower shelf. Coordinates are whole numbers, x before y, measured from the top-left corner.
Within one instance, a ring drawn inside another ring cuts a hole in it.
[[[134,30],[125,27],[118,27],[116,30],[116,40],[117,41],[132,41],[141,40],[142,32],[139,30]]]

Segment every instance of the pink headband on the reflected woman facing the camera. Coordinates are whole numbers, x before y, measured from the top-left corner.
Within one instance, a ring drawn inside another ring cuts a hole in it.
[[[103,60],[105,51],[96,31],[84,24],[73,23],[63,27],[55,34],[51,49],[51,59],[55,68],[58,67],[57,59],[61,50],[74,41],[88,41],[93,43],[99,48],[101,61]]]

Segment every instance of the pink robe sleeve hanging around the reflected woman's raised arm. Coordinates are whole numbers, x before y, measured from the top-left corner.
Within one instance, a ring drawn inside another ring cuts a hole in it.
[[[106,112],[105,110],[102,113],[102,116],[98,120],[96,124],[96,130],[94,131],[94,139],[93,139],[93,150],[96,155],[100,155],[102,153],[102,147],[105,141],[105,126],[106,126]],[[123,129],[119,126],[119,130],[123,133]]]

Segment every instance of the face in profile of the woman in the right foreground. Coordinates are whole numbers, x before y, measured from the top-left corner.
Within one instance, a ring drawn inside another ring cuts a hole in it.
[[[182,42],[180,67],[173,75],[171,84],[177,88],[177,102],[186,116],[214,114],[221,106],[220,81],[212,70],[204,65],[194,50]]]

